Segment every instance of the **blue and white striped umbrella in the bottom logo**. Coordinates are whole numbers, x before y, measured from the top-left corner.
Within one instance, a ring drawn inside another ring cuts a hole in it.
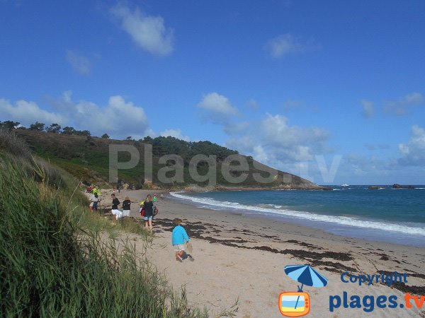
[[[312,287],[324,287],[327,285],[328,280],[323,275],[319,274],[316,270],[310,265],[288,265],[285,266],[285,273],[294,281],[301,283],[301,288],[298,286],[298,291],[302,292],[302,286],[312,286]],[[295,308],[297,308],[298,300],[295,302]]]

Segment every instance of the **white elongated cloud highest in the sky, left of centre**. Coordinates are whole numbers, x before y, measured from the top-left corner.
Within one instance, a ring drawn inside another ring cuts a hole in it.
[[[174,32],[164,25],[161,16],[147,16],[139,8],[131,10],[124,4],[111,8],[113,16],[120,19],[121,28],[132,40],[154,55],[165,56],[174,50]]]

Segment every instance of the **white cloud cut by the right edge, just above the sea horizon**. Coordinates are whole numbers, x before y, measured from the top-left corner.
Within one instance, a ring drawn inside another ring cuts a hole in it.
[[[418,125],[412,126],[412,136],[407,143],[398,145],[403,157],[399,158],[401,165],[425,165],[425,129]]]

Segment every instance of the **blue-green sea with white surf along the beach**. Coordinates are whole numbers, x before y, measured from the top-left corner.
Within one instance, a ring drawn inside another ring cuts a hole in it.
[[[346,237],[425,247],[425,186],[333,191],[235,191],[171,193],[178,200],[223,213],[273,218]]]

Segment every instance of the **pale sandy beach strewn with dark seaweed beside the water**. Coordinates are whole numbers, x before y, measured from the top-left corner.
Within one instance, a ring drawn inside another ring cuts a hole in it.
[[[140,218],[138,203],[146,190],[125,190],[118,194],[132,201],[131,216]],[[159,191],[157,194],[159,195]],[[111,191],[103,191],[101,207],[110,207]],[[311,310],[307,317],[425,317],[425,304],[416,308],[375,308],[364,312],[363,297],[397,296],[404,303],[404,294],[425,295],[425,249],[371,242],[332,235],[322,230],[280,223],[268,218],[242,216],[238,213],[214,211],[182,204],[164,193],[157,202],[159,214],[154,220],[155,239],[147,257],[164,272],[175,290],[186,288],[188,302],[207,306],[214,313],[231,307],[239,300],[236,317],[282,317],[278,310],[278,295],[296,291],[297,283],[285,275],[286,265],[310,264],[328,278],[324,288],[305,286],[310,295]],[[173,218],[181,218],[193,245],[195,261],[176,261],[171,246]],[[137,249],[142,242],[135,241]],[[377,274],[409,273],[407,283],[389,287],[382,283],[358,285],[343,283],[341,273]],[[344,308],[329,312],[329,297],[343,293],[348,303],[353,295],[361,298],[362,308]],[[386,302],[390,305],[389,302]]]

